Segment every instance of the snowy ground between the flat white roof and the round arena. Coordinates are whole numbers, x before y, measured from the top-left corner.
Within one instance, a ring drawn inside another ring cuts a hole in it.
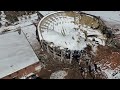
[[[16,31],[17,29],[21,29],[27,36],[27,39],[29,42],[34,45],[35,43],[38,43],[36,40],[36,27],[33,25],[33,22],[37,22],[38,16],[37,14],[32,15],[24,15],[23,17],[18,17],[18,22],[15,22],[13,25],[5,26],[3,25],[0,28],[0,32],[4,30],[10,30],[10,32]],[[38,45],[38,44],[37,44]]]

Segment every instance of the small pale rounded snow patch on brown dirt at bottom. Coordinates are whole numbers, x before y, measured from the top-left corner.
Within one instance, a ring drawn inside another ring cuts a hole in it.
[[[54,73],[51,74],[50,79],[65,79],[64,77],[67,75],[66,71],[56,71]]]

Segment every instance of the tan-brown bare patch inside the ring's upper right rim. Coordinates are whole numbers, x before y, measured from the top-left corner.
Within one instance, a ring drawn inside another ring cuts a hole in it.
[[[70,16],[70,17],[75,17],[75,18],[79,17],[80,24],[87,25],[87,26],[94,28],[94,29],[103,30],[104,26],[105,26],[105,24],[103,23],[103,21],[99,17],[87,15],[85,13],[75,13],[73,11],[69,11],[69,12],[66,12],[66,15]]]

